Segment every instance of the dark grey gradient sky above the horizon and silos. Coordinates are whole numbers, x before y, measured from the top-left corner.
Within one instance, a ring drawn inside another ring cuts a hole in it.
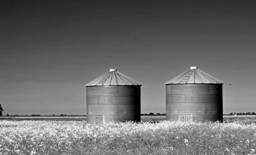
[[[0,1],[3,115],[86,115],[84,85],[115,67],[140,83],[141,114],[198,66],[223,113],[256,112],[255,1]],[[230,85],[231,84],[231,85]]]

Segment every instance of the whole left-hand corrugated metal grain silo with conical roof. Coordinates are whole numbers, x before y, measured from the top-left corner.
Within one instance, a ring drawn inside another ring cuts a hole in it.
[[[116,69],[88,83],[87,121],[140,121],[140,86]]]

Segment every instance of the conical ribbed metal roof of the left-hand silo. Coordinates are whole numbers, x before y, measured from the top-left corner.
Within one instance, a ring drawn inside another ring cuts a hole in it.
[[[109,72],[105,73],[102,76],[99,76],[97,79],[88,83],[86,86],[117,86],[117,85],[137,85],[141,86],[139,83],[130,79],[129,77],[118,72],[117,69],[110,69]]]

